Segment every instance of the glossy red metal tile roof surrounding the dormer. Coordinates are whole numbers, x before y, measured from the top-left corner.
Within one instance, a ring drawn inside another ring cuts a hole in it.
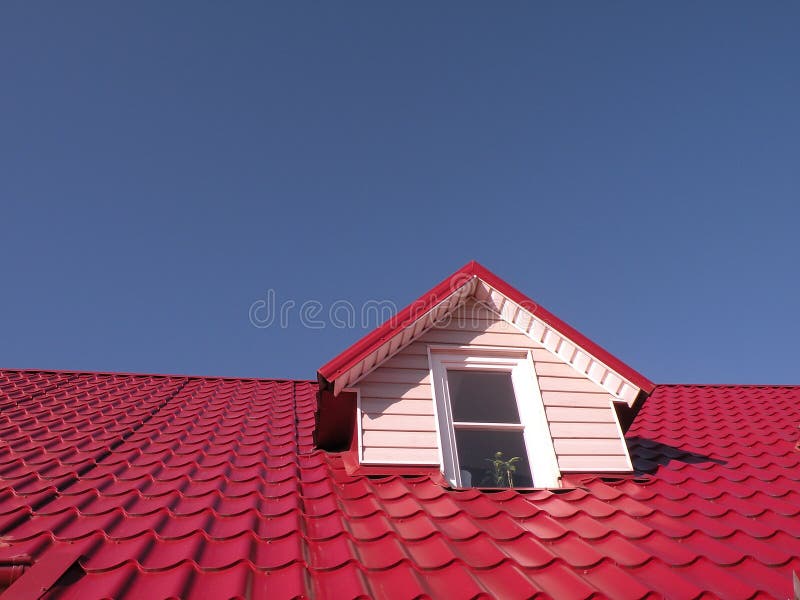
[[[493,493],[347,475],[315,393],[0,371],[4,597],[791,595],[799,387],[657,386],[636,475]]]

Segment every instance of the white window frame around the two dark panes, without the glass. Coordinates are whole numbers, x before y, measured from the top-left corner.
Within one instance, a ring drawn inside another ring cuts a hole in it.
[[[542,393],[533,367],[530,350],[476,346],[429,346],[434,406],[441,443],[442,469],[454,487],[463,487],[456,454],[455,428],[447,383],[447,370],[506,371],[511,374],[521,425],[469,423],[472,429],[512,429],[523,431],[533,485],[558,487],[558,469],[553,439],[547,423]]]

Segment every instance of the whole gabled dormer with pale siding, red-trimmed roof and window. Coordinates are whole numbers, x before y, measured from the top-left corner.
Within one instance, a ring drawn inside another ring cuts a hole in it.
[[[654,387],[476,262],[318,379],[317,443],[351,469],[487,488],[631,472],[617,409]]]

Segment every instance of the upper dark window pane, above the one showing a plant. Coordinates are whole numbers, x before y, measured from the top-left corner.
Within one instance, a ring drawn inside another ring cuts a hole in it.
[[[517,400],[508,371],[448,371],[454,421],[519,423]]]

